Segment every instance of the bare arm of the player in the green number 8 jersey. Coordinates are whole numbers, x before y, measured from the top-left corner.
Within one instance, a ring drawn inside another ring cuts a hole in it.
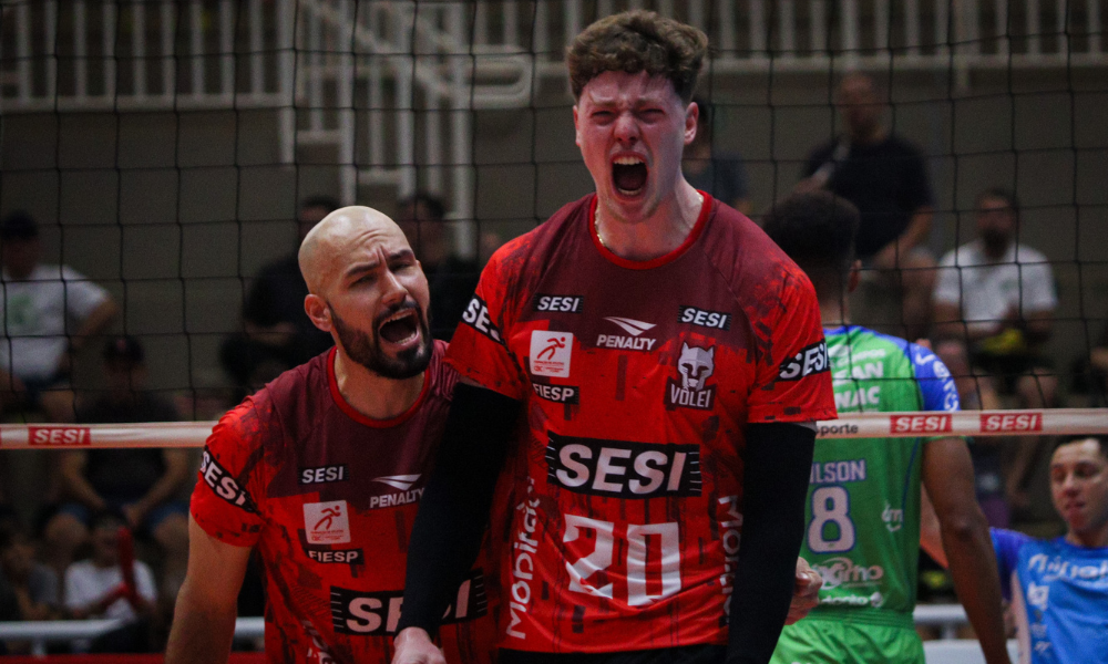
[[[981,640],[985,661],[1007,663],[1001,580],[988,523],[974,497],[973,461],[965,442],[941,438],[927,443],[923,448],[923,483],[935,508],[954,590]]]

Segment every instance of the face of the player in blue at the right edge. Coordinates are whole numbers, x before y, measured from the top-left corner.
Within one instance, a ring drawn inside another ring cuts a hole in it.
[[[1076,533],[1108,525],[1108,458],[1094,438],[1058,447],[1050,459],[1054,507]]]

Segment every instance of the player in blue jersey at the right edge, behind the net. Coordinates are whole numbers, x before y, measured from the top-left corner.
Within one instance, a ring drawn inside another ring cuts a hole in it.
[[[1020,662],[1108,664],[1108,437],[1063,440],[1050,459],[1050,494],[1066,535],[992,531]],[[943,562],[937,535],[925,523],[922,543]]]

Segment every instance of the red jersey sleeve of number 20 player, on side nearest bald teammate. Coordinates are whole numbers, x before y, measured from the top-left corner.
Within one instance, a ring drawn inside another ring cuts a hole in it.
[[[463,378],[523,401],[527,390],[526,377],[519,359],[505,342],[515,308],[510,286],[516,282],[519,274],[503,260],[514,246],[509,243],[497,250],[481,272],[476,292],[462,312],[462,321],[450,340],[447,363]]]

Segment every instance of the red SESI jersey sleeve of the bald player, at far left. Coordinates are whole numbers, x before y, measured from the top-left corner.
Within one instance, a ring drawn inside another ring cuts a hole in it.
[[[193,489],[191,511],[212,537],[237,547],[253,547],[261,532],[263,517],[250,488],[260,486],[255,474],[261,466],[260,447],[249,435],[255,418],[247,401],[219,419],[204,446],[199,481]]]

